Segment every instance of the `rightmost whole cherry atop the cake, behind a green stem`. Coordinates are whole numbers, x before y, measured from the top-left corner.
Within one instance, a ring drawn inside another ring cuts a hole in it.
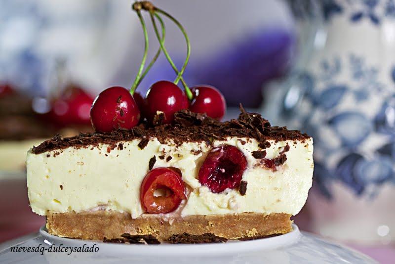
[[[189,109],[195,113],[206,113],[207,116],[221,120],[226,111],[224,95],[212,86],[192,87],[194,99]]]

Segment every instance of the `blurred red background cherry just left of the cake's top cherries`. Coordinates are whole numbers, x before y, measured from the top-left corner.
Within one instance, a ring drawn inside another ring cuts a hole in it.
[[[93,97],[76,85],[69,85],[63,93],[53,100],[48,113],[57,125],[88,125],[89,109]]]

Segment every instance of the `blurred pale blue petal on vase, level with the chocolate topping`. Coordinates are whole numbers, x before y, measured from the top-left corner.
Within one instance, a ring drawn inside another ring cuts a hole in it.
[[[343,112],[328,121],[345,147],[356,147],[373,130],[371,121],[359,112]]]

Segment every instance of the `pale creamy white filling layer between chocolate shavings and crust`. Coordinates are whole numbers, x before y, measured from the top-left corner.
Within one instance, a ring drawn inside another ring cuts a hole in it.
[[[41,154],[27,155],[27,184],[33,212],[82,212],[104,206],[106,210],[127,212],[132,218],[144,213],[140,204],[140,184],[147,174],[149,160],[156,156],[157,167],[180,169],[191,192],[180,215],[217,215],[244,212],[286,213],[296,215],[306,202],[313,176],[313,140],[269,140],[266,158],[279,155],[284,146],[286,162],[276,171],[264,168],[252,151],[260,150],[252,138],[229,137],[213,145],[237,146],[247,159],[243,180],[247,191],[237,189],[212,193],[198,181],[198,170],[211,147],[205,142],[184,142],[177,146],[169,141],[161,144],[151,138],[140,149],[139,139],[110,145],[83,148],[68,147]],[[161,158],[159,158],[159,156]],[[168,157],[171,157],[168,158]]]

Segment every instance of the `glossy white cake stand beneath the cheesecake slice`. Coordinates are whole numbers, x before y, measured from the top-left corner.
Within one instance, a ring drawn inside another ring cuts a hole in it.
[[[44,251],[30,253],[11,252],[10,247],[63,247],[98,248],[96,253],[55,253]],[[349,248],[301,233],[297,225],[293,231],[270,238],[250,241],[229,241],[215,244],[161,244],[126,245],[69,239],[40,231],[17,240],[0,244],[0,263],[376,263],[367,256]]]

